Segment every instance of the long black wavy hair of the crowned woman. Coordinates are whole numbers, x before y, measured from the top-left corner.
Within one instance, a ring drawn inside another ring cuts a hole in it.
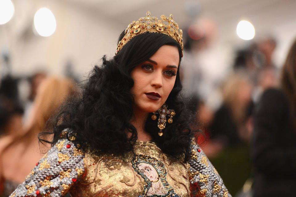
[[[119,40],[124,36],[121,33]],[[80,98],[68,101],[60,108],[59,113],[51,118],[46,130],[39,134],[39,140],[47,142],[44,134],[54,133],[53,146],[60,139],[63,129],[70,128],[67,138],[80,149],[94,154],[122,154],[131,151],[137,140],[137,130],[130,123],[133,118],[134,102],[130,89],[134,81],[130,72],[138,64],[148,60],[161,46],[176,46],[181,61],[182,49],[178,42],[161,33],[144,33],[135,36],[111,60],[102,58],[101,66],[94,66],[86,83],[82,87]],[[180,64],[180,62],[179,62]],[[185,161],[190,156],[190,141],[193,132],[189,128],[195,116],[186,110],[182,97],[179,68],[175,85],[167,98],[169,109],[176,112],[173,123],[167,124],[163,136],[158,136],[157,121],[151,119],[152,113],[145,123],[146,132],[161,150],[171,156],[185,155]],[[128,137],[127,133],[130,133]],[[43,138],[43,139],[42,139]]]

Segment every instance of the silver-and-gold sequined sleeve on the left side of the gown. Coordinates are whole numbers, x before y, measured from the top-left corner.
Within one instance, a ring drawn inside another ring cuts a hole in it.
[[[84,173],[84,154],[67,139],[59,140],[40,159],[10,197],[63,196]]]

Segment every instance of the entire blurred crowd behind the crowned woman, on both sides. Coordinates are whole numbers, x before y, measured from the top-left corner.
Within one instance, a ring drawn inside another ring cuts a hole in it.
[[[213,69],[220,69],[220,60],[211,58],[215,31],[211,23],[203,23],[203,31],[192,25],[184,33],[180,75],[188,108],[196,112],[198,129],[204,132],[198,137],[204,152],[233,196],[280,191],[290,196],[296,167],[296,43],[285,65],[277,66],[272,58],[276,41],[257,40],[237,50],[229,69],[217,74]],[[67,69],[72,72],[71,66]],[[2,76],[0,196],[9,196],[50,148],[38,142],[38,133],[78,91],[77,80],[68,76],[72,79],[45,72]]]

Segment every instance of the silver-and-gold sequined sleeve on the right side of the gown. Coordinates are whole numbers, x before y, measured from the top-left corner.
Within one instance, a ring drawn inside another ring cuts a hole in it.
[[[191,196],[231,197],[217,170],[194,141],[189,165]]]

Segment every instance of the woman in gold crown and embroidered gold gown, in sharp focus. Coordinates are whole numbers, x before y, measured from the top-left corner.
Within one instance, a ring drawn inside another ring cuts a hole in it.
[[[11,196],[231,196],[191,141],[179,98],[182,31],[173,15],[161,19],[148,11],[122,32],[116,55],[56,117],[51,150]],[[151,180],[144,163],[156,171]]]

